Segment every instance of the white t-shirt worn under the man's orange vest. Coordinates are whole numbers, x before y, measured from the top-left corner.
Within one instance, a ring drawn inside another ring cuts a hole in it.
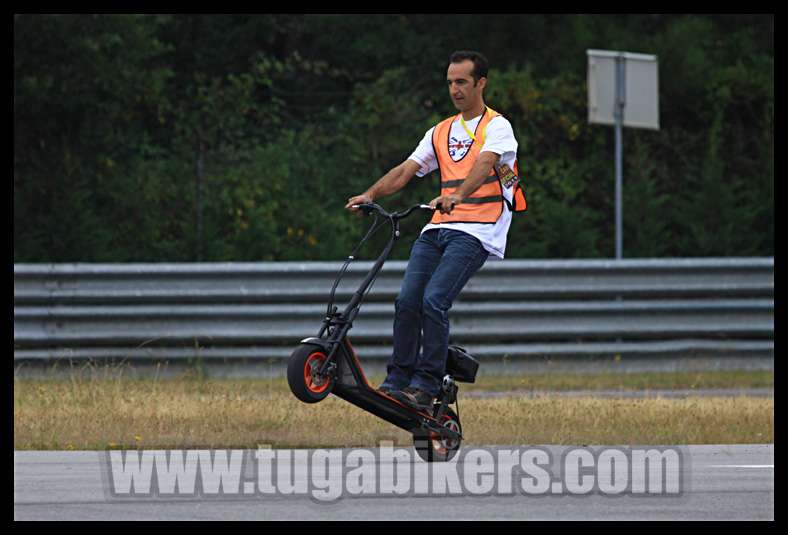
[[[465,121],[468,130],[475,132],[481,118],[482,116],[480,115],[470,121]],[[408,158],[421,166],[416,172],[416,176],[423,177],[438,169],[438,158],[432,147],[432,132],[434,130],[435,127],[432,127],[424,134],[419,146]],[[481,132],[474,135],[478,139]],[[465,128],[462,127],[458,116],[452,123],[451,132],[449,133],[449,154],[452,159],[458,161],[465,156],[472,142],[473,140],[465,131]],[[482,146],[480,152],[485,151],[494,152],[501,156],[498,164],[496,164],[497,166],[506,164],[510,169],[514,169],[514,161],[517,159],[517,140],[514,138],[512,125],[506,118],[499,115],[491,119],[487,124],[484,146]],[[513,191],[514,186],[508,189],[503,188],[503,195],[510,203],[513,202]],[[503,259],[503,254],[506,250],[506,234],[509,232],[511,222],[512,212],[504,206],[501,217],[492,225],[489,223],[442,223],[437,225],[428,223],[421,231],[446,227],[467,232],[482,242],[484,248],[490,253],[490,259]]]

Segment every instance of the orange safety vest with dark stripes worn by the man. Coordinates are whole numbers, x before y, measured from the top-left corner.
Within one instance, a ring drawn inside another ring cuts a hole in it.
[[[451,125],[458,116],[452,116],[438,123],[432,132],[432,149],[438,159],[438,169],[441,175],[441,195],[453,193],[473,168],[476,158],[479,157],[484,146],[484,133],[490,121],[500,113],[487,108],[479,124],[476,125],[474,136],[478,139],[471,142],[468,152],[459,161],[455,162],[449,154],[449,136]],[[477,132],[482,132],[479,137]],[[503,213],[503,205],[513,212],[522,212],[526,209],[525,195],[520,183],[520,172],[517,169],[517,160],[514,162],[516,182],[514,184],[514,206],[503,196],[502,178],[493,166],[487,179],[479,186],[470,197],[463,199],[461,204],[454,206],[450,214],[442,214],[435,210],[430,223],[495,223]],[[511,187],[511,185],[510,185]]]

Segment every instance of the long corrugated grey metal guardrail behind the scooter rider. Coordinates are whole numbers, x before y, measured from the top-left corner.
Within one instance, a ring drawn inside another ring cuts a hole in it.
[[[284,358],[313,336],[340,262],[16,264],[14,358]],[[371,262],[352,264],[350,298]],[[406,263],[388,262],[351,338],[385,358]],[[488,262],[450,312],[486,357],[773,354],[774,259]]]

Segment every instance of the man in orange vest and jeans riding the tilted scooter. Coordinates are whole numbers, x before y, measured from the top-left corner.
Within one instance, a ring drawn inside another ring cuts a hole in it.
[[[436,211],[413,244],[395,301],[394,349],[379,387],[422,410],[432,407],[445,373],[448,310],[488,257],[503,258],[511,212],[525,209],[512,127],[484,103],[487,71],[482,54],[453,53],[446,82],[460,113],[428,130],[407,160],[345,206],[358,210],[351,206],[440,170],[440,195],[429,203]]]

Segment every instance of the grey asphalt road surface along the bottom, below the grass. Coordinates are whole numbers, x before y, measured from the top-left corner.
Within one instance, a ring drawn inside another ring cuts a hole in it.
[[[547,452],[551,457],[551,469],[566,461],[564,456],[571,449],[569,446],[529,448]],[[483,471],[486,461],[482,459],[478,465],[474,464],[475,461],[482,457],[486,459],[487,455],[495,458],[500,450],[507,448],[482,448],[477,452],[483,455],[473,459],[465,456],[466,450],[470,449],[463,449],[462,455],[458,456],[459,463],[441,464],[444,467],[455,464],[455,469],[459,469],[461,474],[465,470],[461,475],[463,481],[478,483],[482,480],[475,476],[466,478],[473,466],[479,466]],[[526,449],[520,447],[518,451]],[[591,448],[597,453],[604,449],[600,446]],[[357,497],[347,494],[347,488],[343,487],[345,494],[329,503],[321,503],[314,495],[245,495],[243,492],[221,497],[206,497],[199,493],[189,497],[166,497],[156,492],[147,497],[119,497],[110,492],[111,468],[105,452],[17,451],[14,453],[14,517],[16,520],[774,519],[773,444],[679,446],[677,450],[681,458],[678,495],[643,496],[625,492],[624,495],[611,496],[604,495],[600,490],[601,484],[596,491],[586,495],[573,495],[566,490],[569,487],[566,481],[572,478],[577,481],[578,475],[588,475],[588,470],[582,469],[580,474],[577,471],[571,473],[571,470],[565,472],[565,488],[561,490],[559,484],[559,488],[553,489],[556,493],[547,496],[524,495],[521,492],[475,495],[482,485],[470,489],[463,486],[460,495],[430,495],[411,490],[404,496]],[[333,451],[347,454],[349,450]],[[306,452],[312,453],[313,450]],[[247,455],[251,458],[252,452]],[[603,464],[601,457],[597,462]],[[390,460],[378,458],[374,464],[380,473],[385,468],[395,470]],[[436,466],[426,465],[419,459],[413,460],[410,466],[414,468],[416,465]],[[244,476],[254,473],[253,469],[257,467],[251,463],[244,466]],[[296,473],[298,468],[296,462]],[[345,481],[343,475],[332,475],[330,468],[325,474],[327,481],[336,482],[337,477]],[[412,477],[412,481],[417,481],[422,476],[413,472]],[[598,477],[602,478],[601,475]],[[669,479],[668,472],[664,478],[665,481]],[[637,476],[630,475],[628,481],[634,484],[636,479]],[[248,479],[244,477],[242,485],[247,484],[246,481]],[[615,481],[615,477],[610,481]],[[255,486],[254,483],[248,484]]]

